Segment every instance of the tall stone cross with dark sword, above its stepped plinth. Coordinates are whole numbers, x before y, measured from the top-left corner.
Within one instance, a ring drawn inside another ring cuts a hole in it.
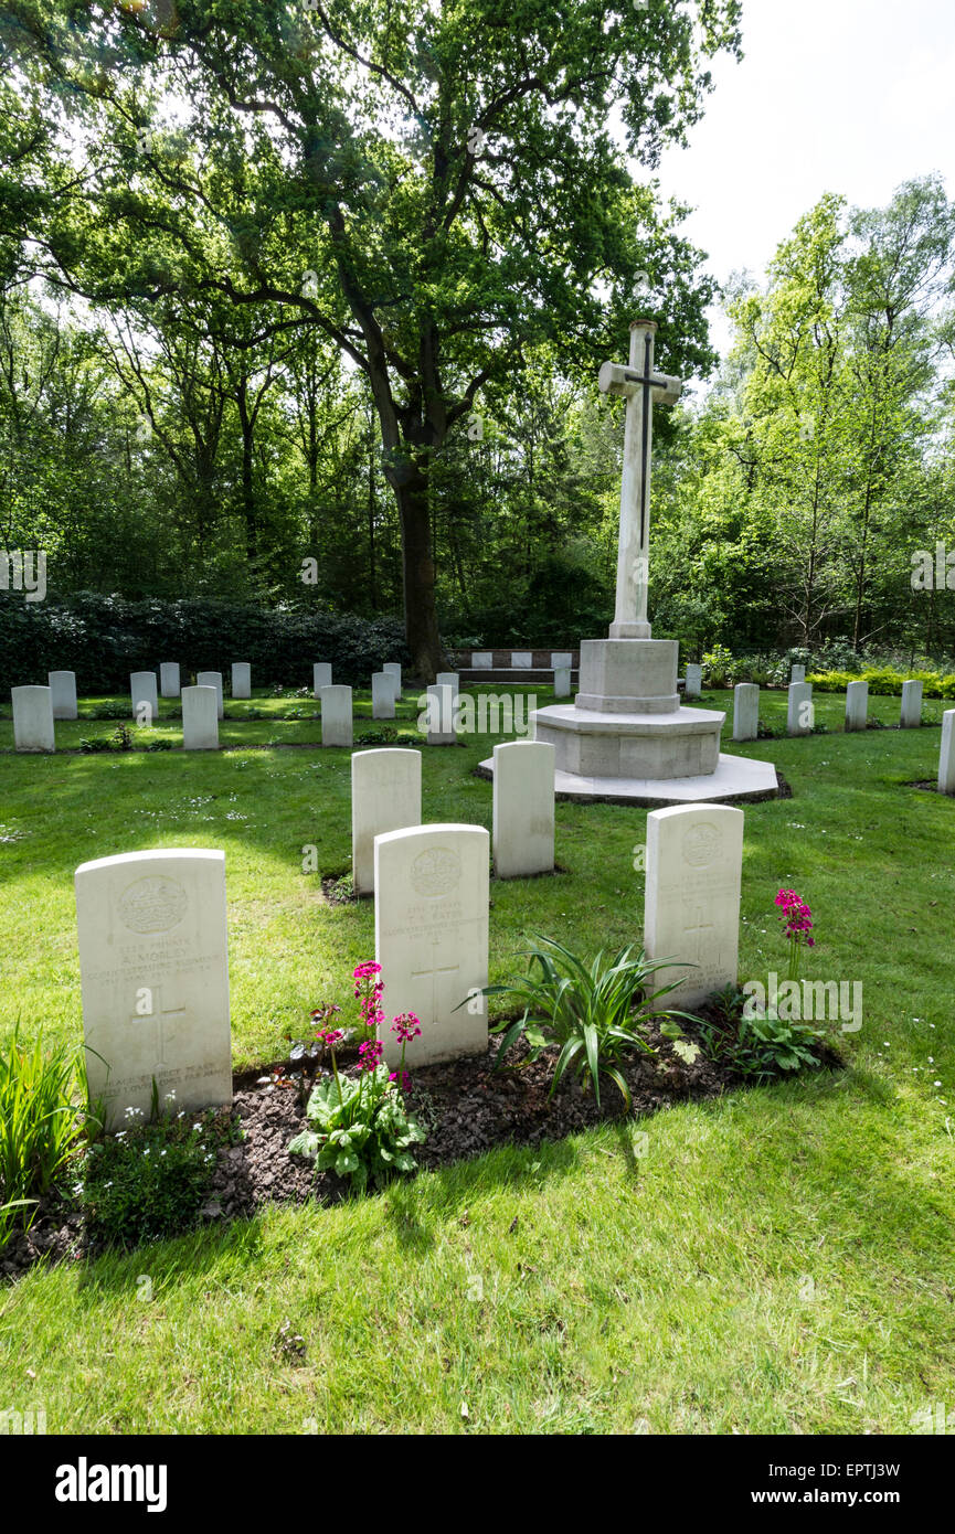
[[[623,480],[620,485],[620,543],[617,552],[617,606],[611,640],[648,640],[646,588],[649,581],[649,471],[653,405],[676,405],[683,384],[654,373],[656,321],[634,319],[630,327],[630,367],[605,362],[599,374],[603,394],[626,400]]]

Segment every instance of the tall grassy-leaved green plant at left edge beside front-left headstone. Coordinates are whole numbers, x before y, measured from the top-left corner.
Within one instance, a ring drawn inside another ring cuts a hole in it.
[[[34,1201],[51,1192],[77,1154],[91,1117],[77,1101],[80,1080],[74,1046],[45,1049],[41,1035],[28,1045],[14,1028],[0,1052],[0,1250],[3,1230],[9,1233],[17,1218],[29,1226]]]

